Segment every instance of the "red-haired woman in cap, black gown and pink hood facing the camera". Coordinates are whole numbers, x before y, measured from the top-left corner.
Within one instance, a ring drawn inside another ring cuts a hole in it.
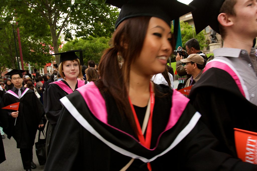
[[[79,57],[75,54],[75,52],[79,51],[80,50],[73,50],[59,53],[61,55],[59,73],[63,80],[52,82],[45,88],[43,100],[45,115],[48,118],[46,141],[47,154],[50,147],[51,136],[62,109],[60,99],[86,84],[86,81],[80,80],[83,78],[80,66],[80,61],[82,62],[83,58],[81,55],[79,60]]]

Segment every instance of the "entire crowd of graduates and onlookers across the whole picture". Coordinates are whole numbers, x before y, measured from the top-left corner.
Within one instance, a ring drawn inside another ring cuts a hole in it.
[[[32,147],[46,116],[47,171],[257,170],[256,151],[248,162],[238,158],[233,130],[257,132],[257,2],[106,3],[121,11],[99,66],[84,66],[75,54],[81,50],[73,50],[58,54],[53,73],[33,80],[14,69],[1,84],[0,105],[21,105],[15,112],[1,109],[0,126],[16,140],[24,169],[36,167]],[[204,10],[210,5],[213,13]],[[191,11],[197,33],[210,25],[223,47],[212,60],[196,39],[179,47],[176,70],[187,76],[183,86],[192,86],[185,97],[172,89],[167,60],[173,53],[170,23]]]

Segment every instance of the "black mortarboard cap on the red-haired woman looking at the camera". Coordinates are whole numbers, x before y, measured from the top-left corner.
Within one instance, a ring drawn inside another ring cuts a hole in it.
[[[85,51],[85,50],[70,50],[67,52],[51,54],[51,55],[61,55],[60,63],[63,61],[73,61],[74,59],[79,58],[80,65],[84,65],[82,51]],[[79,57],[75,54],[75,52],[80,52]],[[47,56],[49,56],[49,55],[47,55]]]

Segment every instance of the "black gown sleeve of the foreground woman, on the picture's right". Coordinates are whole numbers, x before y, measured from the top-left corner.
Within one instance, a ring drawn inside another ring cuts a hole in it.
[[[257,165],[242,162],[238,158],[224,153],[218,140],[201,121],[197,123],[190,134],[181,142],[185,150],[183,170],[219,170],[241,171],[257,170]]]

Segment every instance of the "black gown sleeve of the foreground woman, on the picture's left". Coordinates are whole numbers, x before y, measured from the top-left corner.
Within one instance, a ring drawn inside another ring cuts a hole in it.
[[[44,170],[82,169],[82,162],[80,162],[78,155],[80,146],[79,134],[80,124],[66,108],[63,108],[56,125]]]

